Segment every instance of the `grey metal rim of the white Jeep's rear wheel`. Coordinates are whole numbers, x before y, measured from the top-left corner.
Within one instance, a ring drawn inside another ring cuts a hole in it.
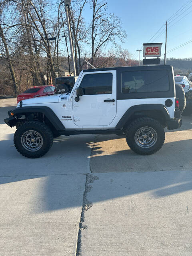
[[[139,128],[135,133],[135,142],[141,148],[150,148],[157,141],[156,131],[148,126]]]

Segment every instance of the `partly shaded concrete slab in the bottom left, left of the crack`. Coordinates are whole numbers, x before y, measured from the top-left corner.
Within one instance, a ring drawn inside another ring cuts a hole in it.
[[[86,176],[0,178],[0,255],[74,256]]]

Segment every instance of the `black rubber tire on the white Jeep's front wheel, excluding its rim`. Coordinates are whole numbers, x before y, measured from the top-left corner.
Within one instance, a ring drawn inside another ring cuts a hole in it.
[[[21,138],[22,135],[27,132],[27,131],[36,131],[38,132],[42,138],[42,146],[39,150],[37,151],[28,151],[24,146],[22,145]],[[17,149],[17,151],[22,154],[22,156],[28,157],[28,158],[39,158],[41,156],[44,156],[46,154],[51,146],[53,144],[53,134],[50,128],[39,121],[26,121],[17,128],[15,134],[14,134],[14,145]]]

